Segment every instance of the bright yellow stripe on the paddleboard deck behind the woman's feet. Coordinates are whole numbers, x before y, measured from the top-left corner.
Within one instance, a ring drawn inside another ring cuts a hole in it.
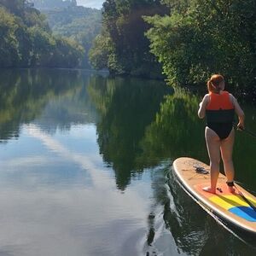
[[[232,207],[250,207],[247,202],[238,195],[213,195],[209,200],[226,210],[229,210]],[[253,205],[256,204],[256,201],[252,198],[247,197],[247,200],[251,201],[252,204],[254,203]]]

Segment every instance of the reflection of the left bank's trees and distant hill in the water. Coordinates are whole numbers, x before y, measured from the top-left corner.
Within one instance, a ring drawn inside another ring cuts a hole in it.
[[[0,73],[0,139],[19,137],[20,124],[35,121],[45,129],[69,129],[96,121],[84,88],[89,74],[48,69],[3,70]],[[72,103],[72,104],[71,104]]]

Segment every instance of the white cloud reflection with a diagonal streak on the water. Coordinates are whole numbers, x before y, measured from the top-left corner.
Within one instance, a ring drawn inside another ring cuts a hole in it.
[[[37,125],[23,125],[23,129],[53,154],[82,166],[95,186],[32,190],[0,186],[0,254],[138,255],[145,242],[150,207],[150,195],[142,193],[143,183],[121,194],[111,174],[103,172],[91,155],[77,154]],[[44,160],[42,156],[34,161]],[[30,161],[17,159],[12,164]],[[133,246],[126,252],[128,241]]]

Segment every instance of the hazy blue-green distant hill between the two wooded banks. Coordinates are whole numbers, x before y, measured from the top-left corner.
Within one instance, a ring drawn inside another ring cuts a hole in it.
[[[65,36],[81,44],[85,50],[84,67],[90,67],[88,52],[101,32],[102,12],[78,6],[76,0],[30,0],[46,16],[55,35]]]

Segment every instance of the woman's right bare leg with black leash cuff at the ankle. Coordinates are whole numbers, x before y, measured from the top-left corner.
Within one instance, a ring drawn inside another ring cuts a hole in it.
[[[227,182],[233,182],[234,181],[234,165],[232,160],[232,153],[233,153],[233,145],[235,141],[235,131],[232,129],[230,131],[229,137],[222,140],[220,142],[220,151],[221,151],[221,157],[224,164],[224,172],[227,177]],[[235,189],[233,187],[229,187],[230,192],[234,193]]]

